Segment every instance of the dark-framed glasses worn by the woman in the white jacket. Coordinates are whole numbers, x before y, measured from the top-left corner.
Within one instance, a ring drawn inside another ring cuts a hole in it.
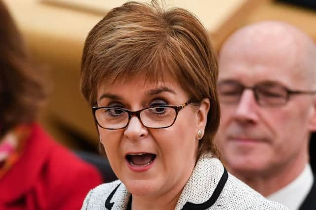
[[[172,126],[180,110],[191,102],[189,100],[180,106],[151,106],[135,112],[118,107],[92,107],[92,112],[97,124],[104,129],[126,128],[132,116],[136,116],[147,128],[161,129]]]

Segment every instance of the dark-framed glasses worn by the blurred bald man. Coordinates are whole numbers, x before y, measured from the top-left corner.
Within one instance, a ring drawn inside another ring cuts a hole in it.
[[[237,104],[244,90],[254,93],[256,102],[260,106],[285,105],[292,94],[316,94],[316,90],[290,90],[275,82],[262,82],[253,87],[247,87],[237,81],[222,81],[217,85],[218,96],[221,102]]]

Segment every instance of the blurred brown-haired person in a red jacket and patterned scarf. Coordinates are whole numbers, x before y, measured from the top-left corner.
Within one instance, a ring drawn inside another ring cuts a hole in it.
[[[44,81],[2,1],[0,52],[0,210],[78,210],[101,176],[37,123]]]

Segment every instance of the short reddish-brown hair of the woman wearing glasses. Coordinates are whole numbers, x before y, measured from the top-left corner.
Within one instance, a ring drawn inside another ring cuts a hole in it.
[[[213,137],[220,120],[217,61],[205,28],[192,13],[163,9],[156,1],[128,2],[112,9],[89,32],[80,86],[91,106],[96,105],[101,84],[137,74],[154,82],[172,75],[194,101],[210,99],[199,154],[210,151],[216,156]]]

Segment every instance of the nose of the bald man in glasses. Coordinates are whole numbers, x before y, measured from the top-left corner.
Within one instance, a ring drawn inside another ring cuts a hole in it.
[[[240,122],[256,122],[258,120],[258,108],[254,92],[246,89],[240,96],[234,117]]]

